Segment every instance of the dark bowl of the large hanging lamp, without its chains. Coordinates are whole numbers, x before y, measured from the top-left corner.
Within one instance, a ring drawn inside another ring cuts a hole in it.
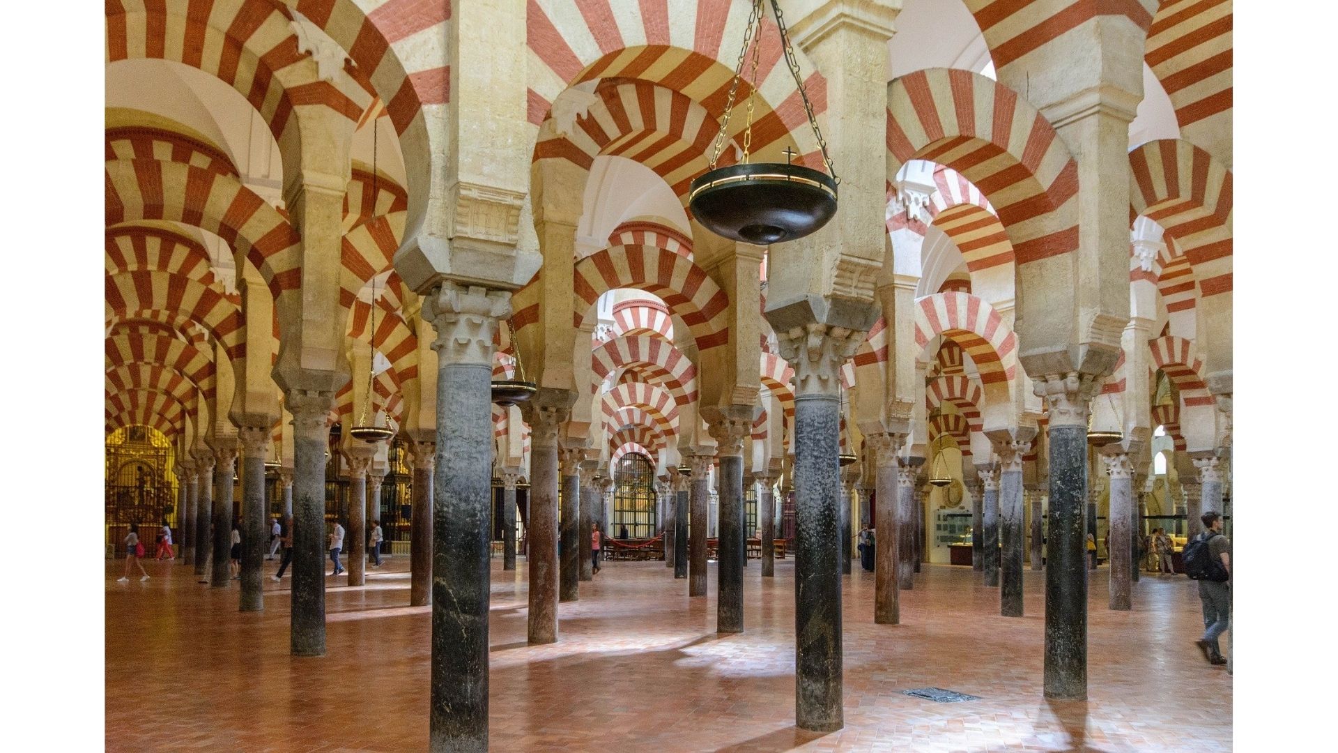
[[[769,245],[801,238],[836,214],[836,181],[803,165],[749,162],[692,181],[692,216],[736,241]]]

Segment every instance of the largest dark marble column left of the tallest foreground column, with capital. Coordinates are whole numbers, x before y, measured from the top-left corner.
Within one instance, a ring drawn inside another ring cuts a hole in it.
[[[290,643],[294,657],[325,655],[325,464],[334,395],[288,390],[284,407],[293,415],[293,600]]]

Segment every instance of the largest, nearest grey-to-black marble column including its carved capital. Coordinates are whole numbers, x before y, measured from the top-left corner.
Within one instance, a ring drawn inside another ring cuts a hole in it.
[[[432,750],[486,750],[492,549],[492,339],[511,293],[442,283],[423,300],[436,330],[432,480]]]

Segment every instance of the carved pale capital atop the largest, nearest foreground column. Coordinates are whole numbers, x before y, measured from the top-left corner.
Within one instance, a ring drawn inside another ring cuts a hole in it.
[[[436,328],[432,350],[440,366],[492,366],[498,320],[511,315],[511,293],[444,281],[423,299],[423,318]]]

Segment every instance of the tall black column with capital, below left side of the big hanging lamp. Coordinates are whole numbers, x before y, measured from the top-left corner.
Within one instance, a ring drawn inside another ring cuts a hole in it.
[[[720,536],[716,548],[716,632],[744,631],[744,438],[752,433],[752,407],[717,409],[710,422],[720,458]]]

